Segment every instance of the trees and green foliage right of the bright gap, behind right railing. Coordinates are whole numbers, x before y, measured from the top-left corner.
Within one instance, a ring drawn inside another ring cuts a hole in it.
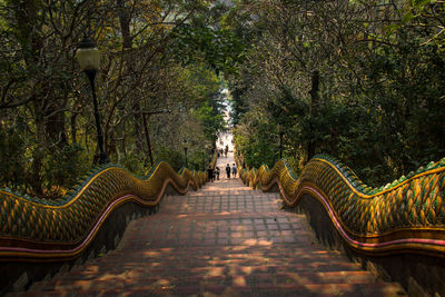
[[[374,186],[444,156],[443,4],[239,2],[229,21],[251,46],[228,85],[249,166],[274,159],[278,129],[296,170],[314,145]]]

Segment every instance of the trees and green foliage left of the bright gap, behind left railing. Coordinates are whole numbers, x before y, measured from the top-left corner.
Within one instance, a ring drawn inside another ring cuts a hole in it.
[[[145,175],[147,128],[155,161],[182,167],[178,143],[187,137],[196,142],[189,165],[201,167],[199,152],[221,127],[215,70],[228,70],[243,47],[231,31],[212,29],[224,7],[208,0],[2,3],[0,188],[55,198],[95,166],[91,89],[75,59],[86,32],[101,52],[96,92],[111,162]],[[141,111],[162,109],[171,112],[147,117],[145,126]]]

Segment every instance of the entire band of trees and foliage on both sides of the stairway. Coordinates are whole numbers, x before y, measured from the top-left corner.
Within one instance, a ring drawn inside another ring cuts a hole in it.
[[[92,166],[91,92],[73,56],[83,32],[102,52],[106,150],[139,175],[148,170],[141,110],[171,109],[148,120],[156,160],[182,167],[187,138],[189,167],[207,164],[225,128],[222,77],[249,166],[278,159],[280,131],[297,169],[315,148],[370,184],[441,159],[445,10],[379,2],[3,1],[0,187],[52,197]]]

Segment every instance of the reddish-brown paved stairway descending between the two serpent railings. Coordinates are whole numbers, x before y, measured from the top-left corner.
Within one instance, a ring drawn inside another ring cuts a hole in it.
[[[231,154],[221,158],[221,174]],[[221,175],[225,177],[225,175]],[[399,296],[346,257],[319,246],[306,218],[278,194],[221,178],[165,197],[132,221],[119,247],[33,285],[23,296]]]

